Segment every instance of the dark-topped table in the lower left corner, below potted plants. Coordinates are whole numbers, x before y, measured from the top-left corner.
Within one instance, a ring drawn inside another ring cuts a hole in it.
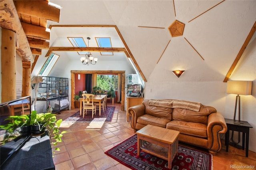
[[[23,138],[16,138],[1,146],[1,164],[16,147],[21,146],[20,150],[16,151],[4,162],[1,170],[55,170],[48,132],[30,136],[24,146],[21,145],[23,141]]]

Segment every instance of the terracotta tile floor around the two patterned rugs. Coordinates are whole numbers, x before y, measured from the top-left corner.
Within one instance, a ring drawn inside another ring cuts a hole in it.
[[[56,151],[54,154],[53,160],[56,170],[130,169],[104,154],[106,150],[134,134],[130,122],[126,121],[126,111],[121,111],[121,106],[118,103],[115,103],[114,106],[116,109],[111,123],[62,123],[61,129],[66,130],[67,133],[63,136],[63,142],[58,144],[60,151]],[[77,111],[79,109],[61,111],[57,117],[64,120]],[[182,145],[207,152],[202,148]],[[229,151],[226,152],[224,140],[222,140],[222,149],[216,156],[213,156],[213,168],[214,170],[239,169],[232,168],[231,165],[252,165],[255,169],[256,153],[249,150],[249,157],[247,158],[244,150],[239,150],[233,146],[229,146]]]

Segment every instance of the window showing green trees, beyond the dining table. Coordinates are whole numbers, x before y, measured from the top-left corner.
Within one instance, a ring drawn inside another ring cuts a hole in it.
[[[118,90],[118,75],[97,75],[97,86],[102,90]]]

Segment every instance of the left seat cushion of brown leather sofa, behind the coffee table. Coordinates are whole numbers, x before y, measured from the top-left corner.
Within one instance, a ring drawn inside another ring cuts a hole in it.
[[[166,128],[166,124],[168,122],[170,122],[170,120],[160,118],[160,117],[155,117],[148,114],[142,115],[137,119],[137,123],[141,125],[154,125],[154,126],[163,127],[163,128]]]

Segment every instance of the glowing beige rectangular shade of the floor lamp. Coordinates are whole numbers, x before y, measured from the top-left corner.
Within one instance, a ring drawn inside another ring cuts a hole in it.
[[[228,81],[227,93],[236,95],[251,95],[252,81]]]

